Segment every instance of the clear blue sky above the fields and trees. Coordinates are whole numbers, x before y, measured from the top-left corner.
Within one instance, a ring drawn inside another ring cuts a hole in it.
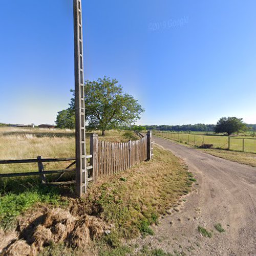
[[[1,1],[0,122],[53,124],[74,88],[72,0]],[[85,79],[118,79],[138,124],[256,123],[254,0],[82,0]]]

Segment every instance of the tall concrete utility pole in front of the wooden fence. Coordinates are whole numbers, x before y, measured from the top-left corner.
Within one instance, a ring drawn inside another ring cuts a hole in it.
[[[73,0],[74,48],[75,48],[75,117],[76,117],[76,195],[82,196],[87,189],[86,128],[84,113],[82,5]]]

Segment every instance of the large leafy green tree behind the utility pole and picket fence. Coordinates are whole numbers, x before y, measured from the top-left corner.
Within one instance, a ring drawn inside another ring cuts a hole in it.
[[[120,125],[131,125],[140,119],[144,109],[133,96],[124,93],[116,79],[104,77],[97,81],[86,81],[84,86],[85,114],[89,129],[99,129],[102,135],[109,129]],[[75,99],[71,99],[70,108],[66,111],[74,116]],[[58,113],[56,124],[66,123]],[[65,114],[65,112],[64,112]],[[63,118],[68,115],[62,115]],[[69,122],[68,122],[69,123]]]

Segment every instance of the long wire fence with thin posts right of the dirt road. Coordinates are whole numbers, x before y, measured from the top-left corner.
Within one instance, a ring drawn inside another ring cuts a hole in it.
[[[198,135],[161,131],[153,131],[153,134],[181,143],[186,143],[188,145],[199,147],[211,145],[212,148],[221,148],[223,150],[256,153],[256,138],[237,138],[218,135]]]

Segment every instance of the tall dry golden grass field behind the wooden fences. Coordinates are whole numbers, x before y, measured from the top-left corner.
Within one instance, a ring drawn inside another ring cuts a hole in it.
[[[99,140],[126,142],[123,131],[106,131]],[[90,153],[90,133],[86,135],[87,154]],[[75,156],[75,132],[63,129],[39,129],[0,127],[0,160],[42,158],[65,158]],[[45,169],[61,169],[70,162],[45,163]],[[0,173],[19,173],[37,170],[37,164],[4,164]]]

